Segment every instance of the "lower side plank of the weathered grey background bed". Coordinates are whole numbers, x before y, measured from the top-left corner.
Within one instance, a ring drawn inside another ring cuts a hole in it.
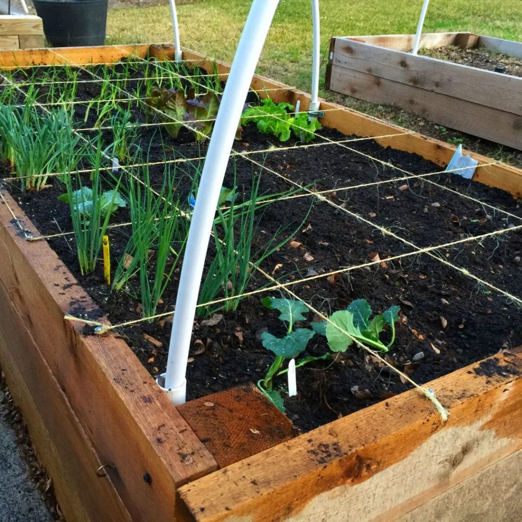
[[[521,82],[522,85],[522,82]],[[522,148],[522,115],[333,65],[331,88],[372,103],[393,103],[434,123]],[[522,92],[518,99],[522,99]]]

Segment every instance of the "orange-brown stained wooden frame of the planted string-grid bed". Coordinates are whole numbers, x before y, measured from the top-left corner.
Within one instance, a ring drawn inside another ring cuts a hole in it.
[[[67,48],[3,52],[0,63],[111,63],[149,52],[172,54],[148,45]],[[210,70],[203,56],[185,50],[184,57]],[[310,100],[259,76],[253,87],[277,89],[270,92],[277,100],[299,99],[303,110]],[[348,135],[404,131],[340,105],[322,102],[321,109],[339,109],[326,112],[323,123]],[[378,141],[440,165],[454,152],[420,134]],[[475,179],[522,193],[522,172],[507,165],[479,166]],[[432,382],[451,412],[445,424],[413,390],[222,467],[219,450],[206,448],[190,427],[192,403],[188,411],[174,408],[123,339],[85,336],[82,325],[64,321],[72,304],[95,305],[47,243],[22,237],[20,227],[33,226],[5,191],[3,197],[0,363],[69,522],[522,516],[520,349],[490,358],[497,371],[489,376],[475,373],[474,364]],[[226,422],[243,437],[249,427],[238,416]]]

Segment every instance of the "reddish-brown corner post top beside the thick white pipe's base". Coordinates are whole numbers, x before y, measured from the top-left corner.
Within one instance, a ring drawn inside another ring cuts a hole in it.
[[[220,468],[286,442],[293,435],[288,417],[254,385],[191,400],[177,410]]]

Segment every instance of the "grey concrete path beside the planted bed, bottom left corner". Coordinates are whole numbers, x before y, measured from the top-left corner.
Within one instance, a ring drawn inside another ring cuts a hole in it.
[[[0,390],[0,521],[52,522],[40,492],[29,478],[29,466],[20,458],[16,434],[4,421],[8,410]]]

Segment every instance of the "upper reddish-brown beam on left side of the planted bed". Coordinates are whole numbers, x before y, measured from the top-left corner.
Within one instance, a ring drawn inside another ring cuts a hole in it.
[[[72,308],[89,313],[96,306],[48,244],[21,239],[11,219],[0,205],[0,280],[9,299],[100,460],[114,465],[108,474],[133,519],[172,519],[176,485],[216,469],[216,462],[122,339],[86,337],[82,325],[64,321]]]

